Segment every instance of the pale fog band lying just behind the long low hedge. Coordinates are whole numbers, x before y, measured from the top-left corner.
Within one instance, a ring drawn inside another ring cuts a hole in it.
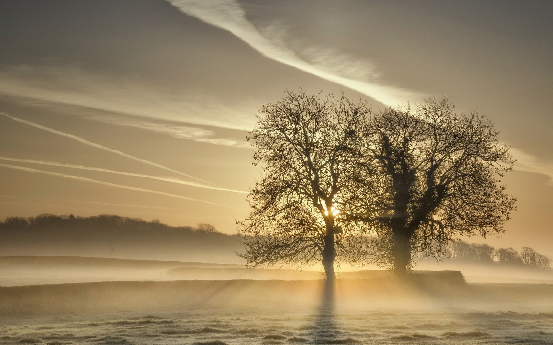
[[[493,264],[437,263],[424,259],[415,272],[434,270],[460,271],[467,283],[553,283],[553,272],[528,267],[504,267]],[[342,264],[341,279],[389,277],[387,270],[369,265],[351,267]],[[0,257],[0,286],[35,284],[87,283],[106,281],[167,280],[312,280],[322,279],[320,266],[303,270],[292,266],[248,269],[241,264],[182,261],[150,261],[75,256],[4,256]],[[551,285],[553,286],[553,285]]]

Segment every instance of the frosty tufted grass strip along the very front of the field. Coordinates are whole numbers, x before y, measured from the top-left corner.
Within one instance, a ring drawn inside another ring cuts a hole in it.
[[[196,310],[9,317],[3,344],[551,344],[553,313]]]

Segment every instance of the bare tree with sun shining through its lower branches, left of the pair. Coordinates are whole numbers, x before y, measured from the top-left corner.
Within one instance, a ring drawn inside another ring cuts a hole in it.
[[[285,92],[264,105],[248,140],[262,178],[249,194],[251,213],[237,222],[249,267],[322,262],[327,280],[335,260],[363,258],[363,224],[342,216],[360,181],[357,129],[363,102],[320,93]]]

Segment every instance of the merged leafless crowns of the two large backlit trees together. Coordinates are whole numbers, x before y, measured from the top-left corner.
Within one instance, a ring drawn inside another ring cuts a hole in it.
[[[372,112],[343,94],[286,92],[259,112],[248,140],[262,177],[237,222],[249,267],[320,261],[333,278],[339,259],[402,273],[459,236],[504,232],[515,209],[501,183],[509,147],[447,98]]]

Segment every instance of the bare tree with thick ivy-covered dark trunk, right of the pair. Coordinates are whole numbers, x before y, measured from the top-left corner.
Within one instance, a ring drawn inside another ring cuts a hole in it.
[[[457,114],[447,98],[386,108],[364,128],[366,166],[378,191],[351,216],[374,226],[373,260],[405,273],[414,254],[440,257],[458,235],[504,232],[515,199],[500,184],[512,169],[509,148],[484,114]]]

